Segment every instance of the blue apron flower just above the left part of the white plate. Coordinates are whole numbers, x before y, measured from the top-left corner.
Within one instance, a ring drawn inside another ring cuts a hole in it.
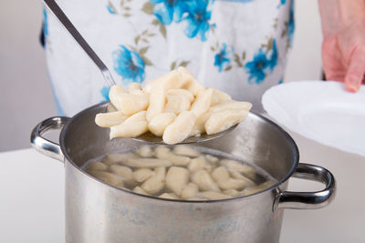
[[[266,54],[260,48],[258,53],[254,56],[254,60],[245,64],[245,69],[247,73],[250,75],[248,76],[248,83],[253,84],[261,84],[265,77],[266,68],[270,65],[270,61],[266,58]]]

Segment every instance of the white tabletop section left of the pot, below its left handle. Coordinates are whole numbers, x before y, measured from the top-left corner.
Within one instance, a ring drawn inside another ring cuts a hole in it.
[[[0,242],[65,242],[64,167],[32,148],[0,153]]]

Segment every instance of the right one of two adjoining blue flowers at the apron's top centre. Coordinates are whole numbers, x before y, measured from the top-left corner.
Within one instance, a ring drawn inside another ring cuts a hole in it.
[[[186,1],[188,15],[183,17],[187,22],[184,33],[189,38],[200,35],[202,41],[206,41],[206,33],[209,30],[209,20],[212,11],[208,11],[209,0]]]

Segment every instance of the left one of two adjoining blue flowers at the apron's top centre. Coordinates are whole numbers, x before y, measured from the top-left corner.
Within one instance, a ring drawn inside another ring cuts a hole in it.
[[[153,15],[155,15],[163,25],[170,25],[172,20],[180,22],[186,5],[183,0],[150,0],[155,5]]]

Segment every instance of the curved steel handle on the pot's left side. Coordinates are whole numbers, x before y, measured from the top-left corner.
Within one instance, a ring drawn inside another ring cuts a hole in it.
[[[62,154],[61,147],[42,135],[49,129],[59,129],[65,126],[70,118],[67,116],[53,116],[40,122],[33,129],[30,135],[30,143],[36,150],[47,157],[56,158],[59,161],[64,162],[65,157]]]

